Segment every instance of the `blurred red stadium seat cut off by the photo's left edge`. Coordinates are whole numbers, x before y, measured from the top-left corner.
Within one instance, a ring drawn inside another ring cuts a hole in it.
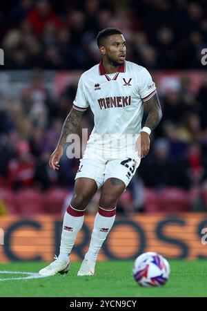
[[[17,215],[19,214],[19,209],[14,198],[13,191],[8,188],[0,188],[0,202],[6,214]]]

